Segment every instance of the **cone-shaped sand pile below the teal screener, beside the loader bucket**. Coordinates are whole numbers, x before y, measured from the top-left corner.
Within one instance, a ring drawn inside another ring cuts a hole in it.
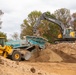
[[[35,62],[61,62],[63,59],[51,49],[47,48],[39,52],[33,52],[30,61]]]

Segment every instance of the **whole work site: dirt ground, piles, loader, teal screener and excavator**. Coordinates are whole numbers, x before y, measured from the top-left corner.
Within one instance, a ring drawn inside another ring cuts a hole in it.
[[[38,35],[37,25],[44,19],[63,30],[54,44]],[[0,37],[0,75],[76,75],[75,31],[43,13],[33,32],[33,36],[22,41],[5,42]]]

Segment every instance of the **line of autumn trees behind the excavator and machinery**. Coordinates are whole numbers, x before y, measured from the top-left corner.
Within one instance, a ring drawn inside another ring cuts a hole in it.
[[[0,16],[1,15],[3,15],[3,12],[0,10]],[[33,35],[33,25],[36,23],[36,20],[40,15],[42,15],[41,11],[32,11],[28,14],[27,18],[23,20],[20,33],[21,39],[26,35]],[[71,24],[74,27],[74,30],[76,30],[76,12],[71,14],[69,9],[61,8],[54,11],[54,13],[47,11],[47,16],[60,20],[66,27]],[[0,22],[2,23],[1,18]],[[41,24],[37,29],[39,30],[40,36],[48,39],[51,43],[53,43],[54,40],[57,39],[58,34],[61,33],[59,26],[47,20],[41,21]],[[4,32],[0,32],[0,36],[4,36],[7,39],[7,35]],[[12,35],[12,38],[18,39],[18,34],[15,32]]]

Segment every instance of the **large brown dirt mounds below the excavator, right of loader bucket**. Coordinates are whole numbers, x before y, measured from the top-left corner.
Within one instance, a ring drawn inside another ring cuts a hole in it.
[[[49,45],[46,49],[35,51],[30,61],[76,62],[76,43]]]

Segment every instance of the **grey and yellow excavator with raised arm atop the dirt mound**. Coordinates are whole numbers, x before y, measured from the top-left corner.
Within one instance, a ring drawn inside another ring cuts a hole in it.
[[[73,29],[72,26],[69,27],[65,27],[65,25],[59,21],[58,19],[54,19],[54,18],[50,18],[47,16],[47,12],[43,13],[38,20],[36,21],[36,23],[33,26],[33,33],[35,36],[38,36],[39,31],[38,31],[38,26],[40,25],[42,20],[47,20],[50,21],[56,25],[58,25],[60,27],[60,32],[61,34],[58,35],[57,40],[55,40],[55,43],[59,43],[59,42],[75,42],[76,40],[76,35],[75,35],[75,31]]]

